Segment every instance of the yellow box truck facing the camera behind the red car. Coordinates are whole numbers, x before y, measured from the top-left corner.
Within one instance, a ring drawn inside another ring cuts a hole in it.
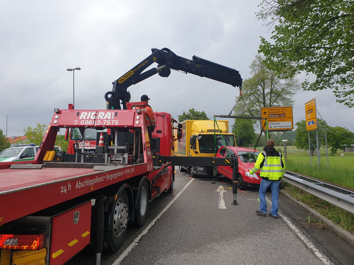
[[[175,141],[175,155],[184,157],[215,157],[215,152],[224,146],[235,146],[236,139],[233,133],[229,133],[229,121],[218,120],[184,120],[182,124],[182,139]],[[214,139],[214,131],[215,138]],[[216,141],[215,141],[216,140]],[[213,167],[205,166],[180,166],[181,172],[188,172],[192,177],[213,175]],[[217,170],[215,168],[215,170]]]

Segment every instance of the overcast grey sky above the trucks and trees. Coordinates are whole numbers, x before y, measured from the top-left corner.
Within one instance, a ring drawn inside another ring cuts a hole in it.
[[[0,129],[7,136],[48,124],[54,108],[105,109],[112,82],[151,54],[169,48],[238,70],[250,77],[259,36],[269,39],[255,18],[260,0],[252,1],[2,1],[0,8]],[[156,67],[156,64],[154,65]],[[302,82],[305,75],[300,75]],[[311,81],[311,79],[310,79]],[[131,101],[142,94],[154,111],[178,114],[195,108],[209,118],[227,115],[238,88],[172,71],[129,88]],[[305,102],[316,107],[330,126],[354,131],[354,108],[336,102],[332,90],[300,90],[293,107],[294,125],[305,119]],[[259,133],[259,128],[256,130]]]

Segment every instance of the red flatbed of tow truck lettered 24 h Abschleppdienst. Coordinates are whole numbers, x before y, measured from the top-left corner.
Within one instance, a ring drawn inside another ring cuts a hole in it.
[[[137,175],[156,175],[167,166],[155,170],[149,170],[152,163],[111,165],[107,166],[107,170],[100,171],[72,167],[3,169],[0,173],[1,224]]]

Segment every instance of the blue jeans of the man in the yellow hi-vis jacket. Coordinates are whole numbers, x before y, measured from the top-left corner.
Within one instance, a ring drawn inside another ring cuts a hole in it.
[[[267,192],[268,187],[272,190],[272,213],[274,216],[278,216],[278,195],[279,195],[279,180],[261,180],[261,185],[259,186],[259,210],[261,212],[267,213],[267,201],[265,200],[265,192]]]

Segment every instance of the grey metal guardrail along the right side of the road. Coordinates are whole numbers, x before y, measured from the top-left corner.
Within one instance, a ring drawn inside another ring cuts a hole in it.
[[[354,214],[354,192],[286,171],[283,180]]]

